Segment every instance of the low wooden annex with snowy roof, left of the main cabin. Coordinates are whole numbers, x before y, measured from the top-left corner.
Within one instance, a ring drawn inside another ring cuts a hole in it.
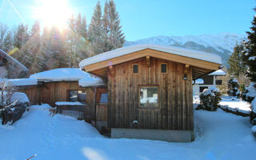
[[[9,82],[25,93],[31,104],[56,102],[81,102],[86,104],[86,119],[96,121],[96,98],[106,93],[104,78],[88,74],[79,68],[58,68],[30,75],[26,79],[12,79]],[[99,100],[98,100],[99,101]],[[101,112],[101,110],[98,110]],[[105,116],[100,114],[100,118]],[[106,116],[105,116],[106,117]]]

